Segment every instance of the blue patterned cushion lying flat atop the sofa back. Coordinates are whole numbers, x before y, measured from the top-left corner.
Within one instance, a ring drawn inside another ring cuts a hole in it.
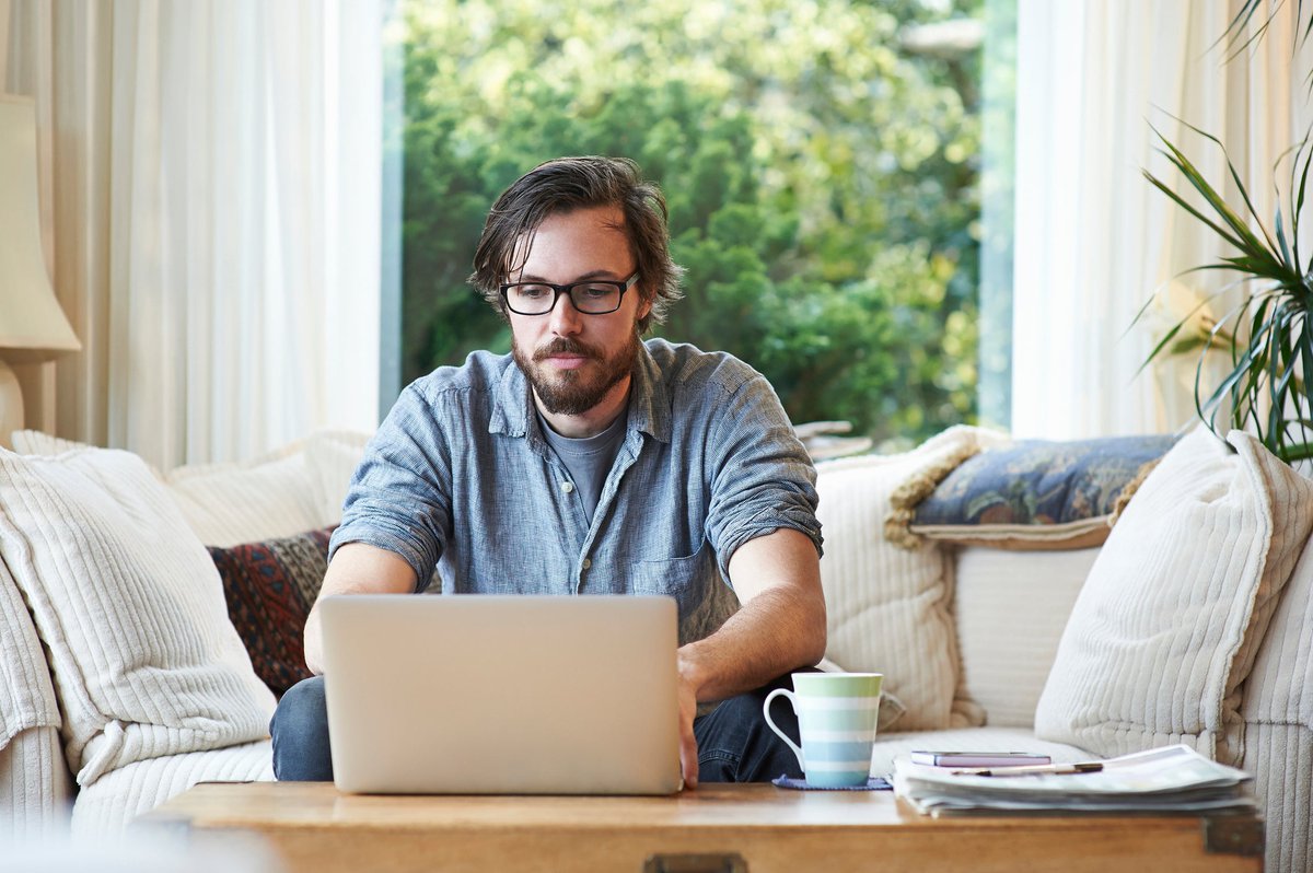
[[[1120,498],[1173,436],[1023,440],[986,449],[916,505],[913,534],[1002,549],[1083,549],[1108,538]]]

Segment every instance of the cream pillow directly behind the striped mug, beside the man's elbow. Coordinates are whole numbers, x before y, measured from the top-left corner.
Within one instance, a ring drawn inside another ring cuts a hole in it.
[[[973,719],[953,705],[960,662],[948,558],[932,543],[907,550],[885,540],[890,496],[918,473],[966,457],[987,438],[995,437],[951,428],[906,454],[817,465],[826,658],[843,670],[884,673],[885,689],[907,710],[899,730],[966,726]]]

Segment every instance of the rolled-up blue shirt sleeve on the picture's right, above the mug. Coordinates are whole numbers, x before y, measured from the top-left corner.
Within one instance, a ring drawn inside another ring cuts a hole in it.
[[[771,383],[756,375],[727,391],[716,417],[706,537],[723,576],[739,546],[781,528],[806,534],[821,554],[815,467]]]

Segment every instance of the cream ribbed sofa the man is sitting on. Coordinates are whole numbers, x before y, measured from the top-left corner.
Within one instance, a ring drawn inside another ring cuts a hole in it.
[[[1060,641],[1100,549],[1008,551],[932,542],[906,550],[881,533],[893,492],[909,475],[956,452],[962,438],[979,437],[958,431],[905,456],[821,466],[827,658],[842,668],[884,672],[886,688],[906,709],[877,744],[877,773],[890,769],[895,754],[913,748],[1039,750],[1056,760],[1091,756],[1077,743],[1039,738],[1035,723]],[[30,456],[53,456],[43,461],[47,474],[50,465],[100,452],[30,432],[16,435],[16,445]],[[232,545],[335,522],[361,445],[358,436],[315,435],[248,465],[156,473],[154,478],[197,545],[202,540]],[[30,456],[0,456],[0,477],[14,475],[16,465],[32,463]],[[5,498],[3,488],[0,483],[0,499],[12,501],[13,494]],[[77,712],[85,702],[67,700],[72,692],[60,675],[60,642],[38,633],[42,622],[34,622],[33,614],[39,610],[13,567],[25,559],[14,525],[12,520],[3,524],[0,838],[53,827],[70,809],[75,830],[122,828],[197,781],[272,778],[263,736],[159,755],[138,748],[116,759],[126,763],[102,767],[104,772],[88,768],[85,750],[75,748],[81,740],[79,729],[68,723],[87,718]],[[1242,740],[1236,763],[1255,775],[1254,789],[1267,815],[1271,870],[1313,865],[1310,588],[1313,550],[1272,597],[1271,621],[1262,629],[1253,670],[1238,692],[1243,726],[1237,729]],[[1046,704],[1060,697],[1054,689],[1048,693]],[[270,701],[259,701],[256,709],[267,712]],[[104,722],[109,719],[100,718],[100,730],[108,730]],[[81,785],[75,771],[81,773]]]

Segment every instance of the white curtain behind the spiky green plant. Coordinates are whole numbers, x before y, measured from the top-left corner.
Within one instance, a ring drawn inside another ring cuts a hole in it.
[[[1150,122],[1237,202],[1221,152],[1173,116],[1221,139],[1271,226],[1272,164],[1313,119],[1301,72],[1313,47],[1292,56],[1295,5],[1253,58],[1224,63],[1213,43],[1238,0],[1018,0],[1016,436],[1166,432],[1195,416],[1195,356],[1136,372],[1174,314],[1234,277],[1173,278],[1226,252],[1141,176],[1188,186],[1154,151]]]

